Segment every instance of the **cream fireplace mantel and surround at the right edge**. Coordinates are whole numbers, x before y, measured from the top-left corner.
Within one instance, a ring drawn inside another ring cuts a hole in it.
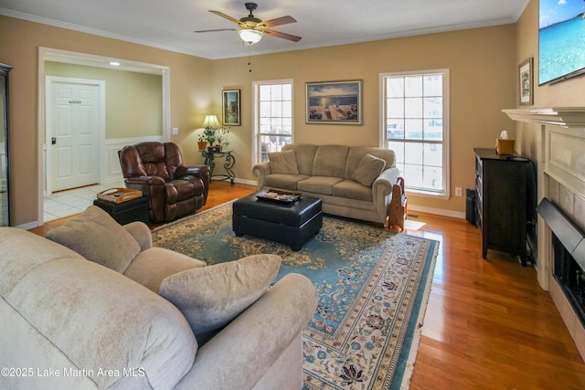
[[[577,283],[579,269],[571,261],[583,268],[579,262],[580,252],[573,253],[570,240],[576,240],[574,248],[581,246],[582,249],[585,245],[582,238],[578,239],[585,231],[585,107],[513,109],[504,112],[514,121],[535,123],[535,126],[522,126],[522,132],[537,132],[530,137],[537,140],[536,144],[524,145],[520,139],[520,142],[516,140],[516,146],[522,153],[523,148],[529,149],[532,160],[537,163],[539,214],[542,216],[543,213],[558,211],[565,216],[565,224],[580,232],[573,238],[564,237],[566,232],[553,231],[557,228],[557,222],[549,226],[547,218],[539,217],[536,269],[540,287],[548,290],[585,360],[585,323],[579,309],[575,308],[575,301],[570,298],[573,292],[567,293],[571,288],[563,286],[564,281]],[[561,242],[563,249],[555,250],[555,240]],[[564,257],[562,261],[568,261],[569,270],[564,270],[567,272],[564,276],[555,275],[555,252],[558,253],[557,261],[561,261],[559,257]],[[574,290],[575,294],[581,292],[580,288]]]

